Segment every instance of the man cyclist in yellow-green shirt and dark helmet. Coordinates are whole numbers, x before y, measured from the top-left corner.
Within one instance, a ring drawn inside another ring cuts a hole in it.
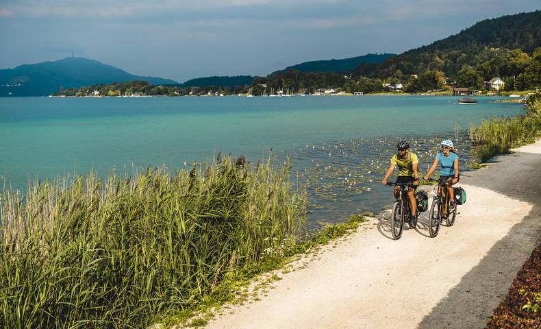
[[[392,171],[394,171],[395,166],[399,167],[399,176],[397,178],[397,183],[413,182],[414,187],[408,186],[407,188],[407,197],[410,199],[410,209],[412,210],[412,214],[410,216],[410,223],[412,224],[412,226],[415,226],[415,224],[417,223],[417,204],[415,201],[414,192],[417,188],[417,185],[419,184],[419,171],[417,168],[419,160],[416,154],[408,151],[409,148],[410,143],[408,143],[407,141],[400,141],[397,144],[398,154],[394,154],[392,156],[391,164],[389,165],[389,169],[387,170],[385,177],[381,181],[381,184],[387,184],[387,179],[392,174]],[[400,186],[394,186],[395,199],[399,198],[399,188]]]

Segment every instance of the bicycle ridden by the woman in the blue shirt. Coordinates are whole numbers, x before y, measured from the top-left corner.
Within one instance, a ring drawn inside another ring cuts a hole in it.
[[[447,226],[453,226],[457,216],[457,205],[455,204],[453,211],[449,211],[449,203],[451,202],[449,191],[447,191],[447,187],[450,186],[449,180],[440,181],[432,178],[428,180],[438,182],[438,186],[434,188],[436,195],[433,198],[428,215],[428,231],[431,237],[435,237],[440,232],[440,224],[443,219],[445,219]]]

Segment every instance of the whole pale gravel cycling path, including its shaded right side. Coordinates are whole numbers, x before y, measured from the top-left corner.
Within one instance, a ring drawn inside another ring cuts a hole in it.
[[[493,162],[462,175],[467,203],[435,239],[427,212],[399,241],[374,219],[206,328],[484,328],[540,241],[541,141]]]

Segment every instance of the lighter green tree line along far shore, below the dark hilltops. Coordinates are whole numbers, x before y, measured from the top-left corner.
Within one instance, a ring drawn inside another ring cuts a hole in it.
[[[154,86],[144,81],[95,84],[81,88],[60,89],[54,95],[269,95],[271,93],[314,93],[320,88],[334,88],[347,93],[380,93],[384,84],[403,84],[407,93],[465,87],[484,90],[484,82],[500,77],[505,90],[531,90],[541,86],[541,47],[531,54],[521,49],[484,48],[478,51],[434,51],[421,53],[410,62],[401,60],[390,64],[361,64],[351,72],[277,71],[266,77],[254,77],[251,84],[238,86]],[[368,69],[368,66],[371,69]],[[417,71],[418,70],[418,71]]]

